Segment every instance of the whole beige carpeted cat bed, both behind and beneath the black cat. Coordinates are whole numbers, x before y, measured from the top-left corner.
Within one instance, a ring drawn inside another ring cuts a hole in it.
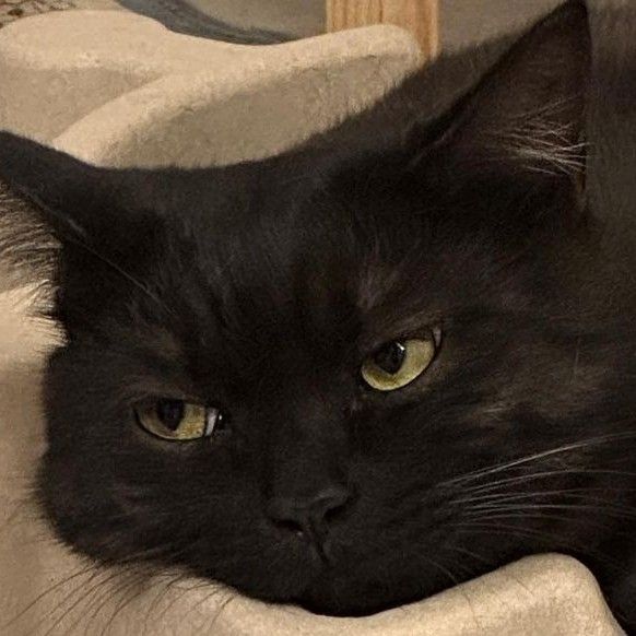
[[[0,5],[2,20],[10,14]],[[125,12],[55,13],[0,31],[0,127],[104,165],[227,164],[333,125],[419,63],[410,36],[392,27],[258,49],[170,34]],[[0,216],[21,204],[0,187]],[[3,274],[2,287],[0,634],[621,633],[590,573],[558,555],[363,619],[267,605],[178,573],[94,568],[55,542],[30,499],[44,446],[39,378],[56,333],[27,318],[28,286]]]

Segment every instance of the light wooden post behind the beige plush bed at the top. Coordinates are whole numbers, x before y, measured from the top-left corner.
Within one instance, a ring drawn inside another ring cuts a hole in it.
[[[438,0],[327,0],[327,31],[397,24],[420,43],[425,59],[439,49]]]

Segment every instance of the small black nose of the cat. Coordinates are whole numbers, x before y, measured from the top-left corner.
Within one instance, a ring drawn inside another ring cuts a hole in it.
[[[330,521],[344,511],[350,499],[346,488],[330,486],[309,497],[274,497],[267,511],[278,526],[321,544]]]

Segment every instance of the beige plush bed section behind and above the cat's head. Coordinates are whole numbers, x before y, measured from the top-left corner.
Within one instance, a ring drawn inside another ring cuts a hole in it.
[[[420,62],[388,25],[261,48],[49,13],[2,30],[0,126],[105,165],[234,163],[329,127]]]

